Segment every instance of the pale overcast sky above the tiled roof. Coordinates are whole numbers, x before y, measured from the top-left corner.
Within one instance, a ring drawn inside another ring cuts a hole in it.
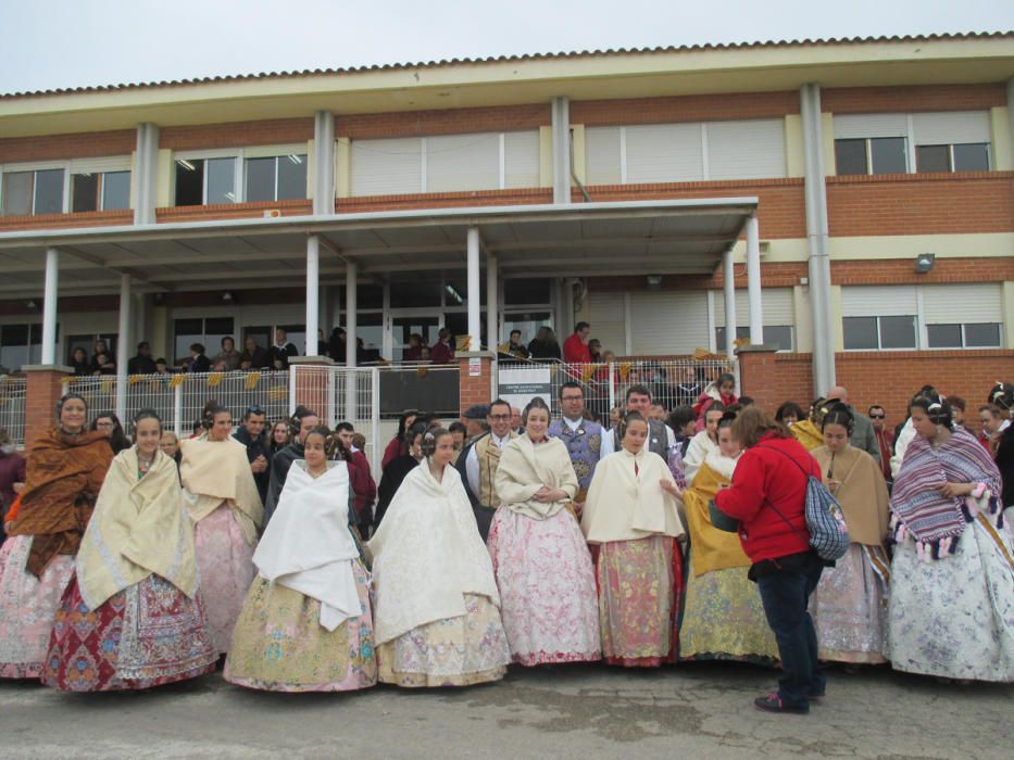
[[[1012,0],[0,0],[0,92],[597,48],[1009,29]]]

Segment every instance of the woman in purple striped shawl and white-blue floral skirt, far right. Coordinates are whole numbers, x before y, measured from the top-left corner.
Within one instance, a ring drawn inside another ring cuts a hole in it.
[[[891,492],[891,666],[946,679],[1014,681],[1014,546],[1000,472],[939,397],[909,405],[916,435]]]

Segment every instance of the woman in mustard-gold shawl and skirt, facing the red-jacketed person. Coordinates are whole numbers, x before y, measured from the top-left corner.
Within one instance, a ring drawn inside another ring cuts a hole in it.
[[[747,578],[750,559],[739,536],[711,522],[709,503],[733,482],[741,454],[733,436],[736,415],[718,422],[718,447],[710,452],[683,494],[687,531],[686,606],[679,630],[679,656],[687,660],[749,660],[771,663],[778,644],[767,624],[756,584]]]

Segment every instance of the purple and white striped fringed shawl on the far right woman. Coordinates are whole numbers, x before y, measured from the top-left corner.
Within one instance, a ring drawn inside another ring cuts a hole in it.
[[[975,518],[968,506],[974,499],[941,496],[944,483],[974,483],[978,493],[973,496],[988,491],[993,503],[1000,493],[996,463],[972,433],[961,428],[937,447],[916,435],[891,494],[894,539],[901,541],[905,531],[912,533],[919,554],[934,559],[954,552],[957,537]]]

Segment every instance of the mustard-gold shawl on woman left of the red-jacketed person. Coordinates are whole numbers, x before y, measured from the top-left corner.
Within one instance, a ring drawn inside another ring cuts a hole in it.
[[[714,469],[713,464],[713,458],[709,457],[683,495],[694,575],[703,575],[712,570],[748,568],[751,565],[743,553],[739,535],[719,531],[711,524],[708,503],[718,493],[719,485],[731,482],[730,478]]]

